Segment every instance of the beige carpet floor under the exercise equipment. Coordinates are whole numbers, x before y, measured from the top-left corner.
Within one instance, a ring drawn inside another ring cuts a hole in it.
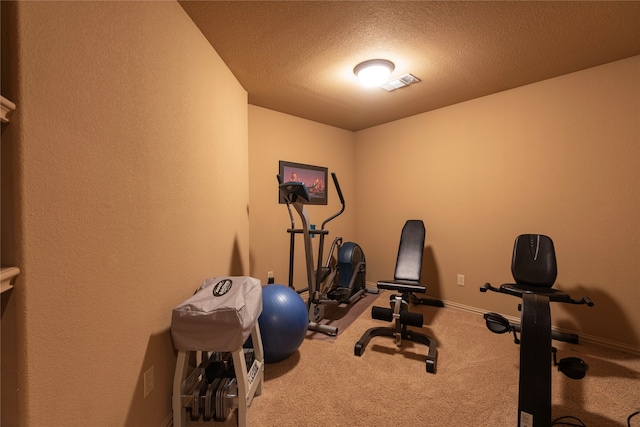
[[[375,305],[388,306],[383,292]],[[514,299],[514,303],[516,303]],[[454,308],[413,306],[421,332],[438,341],[436,374],[425,371],[426,347],[374,338],[353,353],[364,331],[385,322],[365,310],[333,343],[306,339],[299,351],[265,366],[263,393],[249,410],[252,427],[517,425],[519,346],[489,332],[481,316]],[[391,325],[387,323],[387,325]],[[592,343],[555,343],[560,357],[583,358],[587,376],[571,380],[553,370],[553,418],[578,417],[588,427],[626,426],[640,409],[640,355]],[[188,421],[188,426],[235,426]],[[640,418],[633,419],[640,426]]]

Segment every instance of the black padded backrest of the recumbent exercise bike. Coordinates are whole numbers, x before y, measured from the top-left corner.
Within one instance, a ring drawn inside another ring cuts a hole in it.
[[[511,273],[516,284],[551,288],[558,275],[551,238],[542,234],[518,236],[513,245]]]

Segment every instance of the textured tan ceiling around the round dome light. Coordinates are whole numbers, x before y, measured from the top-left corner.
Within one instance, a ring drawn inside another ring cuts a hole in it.
[[[249,103],[347,130],[640,54],[640,2],[180,1]],[[393,92],[360,85],[395,63]]]

